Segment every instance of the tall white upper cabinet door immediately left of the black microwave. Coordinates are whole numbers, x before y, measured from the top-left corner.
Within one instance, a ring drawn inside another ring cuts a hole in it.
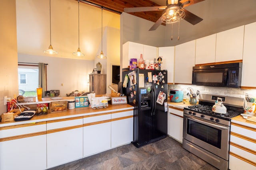
[[[175,46],[174,83],[192,84],[196,40]]]

